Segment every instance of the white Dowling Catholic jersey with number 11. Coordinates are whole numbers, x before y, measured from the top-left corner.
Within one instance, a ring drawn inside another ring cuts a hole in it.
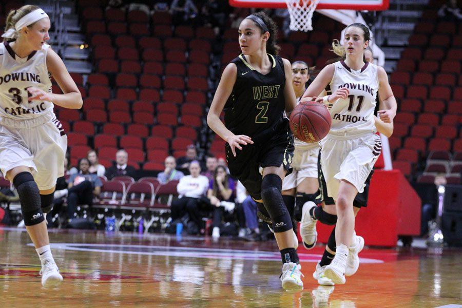
[[[332,117],[332,127],[329,133],[356,135],[363,132],[375,132],[374,109],[379,82],[377,66],[366,62],[360,70],[353,70],[343,61],[334,63],[335,72],[326,89],[328,94],[339,88],[347,88],[347,99],[338,99],[328,103]]]

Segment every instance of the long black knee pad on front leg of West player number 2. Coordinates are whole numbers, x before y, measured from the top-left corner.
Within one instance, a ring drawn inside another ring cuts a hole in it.
[[[282,199],[281,190],[282,180],[279,176],[269,174],[263,177],[261,198],[269,217],[273,220],[275,233],[292,229],[292,219]]]

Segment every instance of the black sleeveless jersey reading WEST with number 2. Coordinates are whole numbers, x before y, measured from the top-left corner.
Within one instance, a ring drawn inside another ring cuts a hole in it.
[[[223,108],[226,128],[254,142],[279,131],[284,119],[284,64],[280,56],[268,56],[273,66],[266,75],[248,64],[244,54],[231,62],[237,67],[236,83]]]

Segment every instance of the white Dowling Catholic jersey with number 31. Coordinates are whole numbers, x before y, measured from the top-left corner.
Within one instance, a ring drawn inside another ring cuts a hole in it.
[[[11,46],[0,44],[0,117],[28,120],[53,112],[53,103],[28,101],[28,87],[34,86],[51,93],[51,80],[46,65],[50,46],[25,58],[18,57]]]

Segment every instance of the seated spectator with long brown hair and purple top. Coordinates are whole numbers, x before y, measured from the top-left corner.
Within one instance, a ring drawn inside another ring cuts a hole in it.
[[[217,166],[214,178],[209,182],[207,191],[207,198],[213,206],[212,237],[214,238],[220,237],[220,225],[225,211],[225,204],[222,201],[234,202],[235,188],[234,180],[228,176],[225,167]],[[226,209],[228,209],[227,206]],[[234,210],[234,207],[229,209]]]

